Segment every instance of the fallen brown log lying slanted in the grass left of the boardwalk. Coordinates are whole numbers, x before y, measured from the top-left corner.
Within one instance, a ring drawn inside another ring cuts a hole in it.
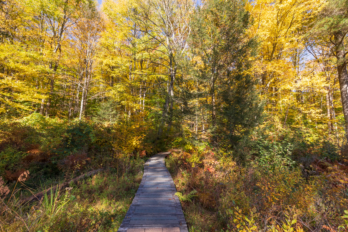
[[[80,175],[78,177],[75,177],[75,178],[71,179],[70,181],[64,182],[62,184],[57,184],[56,186],[50,187],[49,189],[46,189],[46,190],[44,190],[42,192],[39,192],[39,193],[34,194],[34,195],[30,196],[30,197],[27,197],[27,198],[25,198],[23,200],[20,200],[19,204],[20,205],[24,205],[24,204],[32,203],[34,201],[40,201],[42,199],[42,197],[44,197],[44,195],[46,193],[47,193],[47,195],[49,195],[51,193],[55,193],[56,191],[59,191],[61,189],[64,189],[64,188],[68,187],[71,182],[76,183],[79,179],[83,179],[83,178],[86,178],[88,176],[92,176],[92,175],[100,172],[101,170],[103,170],[103,168],[96,169],[96,170],[93,170],[93,171],[89,171],[88,173],[85,173],[85,174],[82,174],[82,175]]]

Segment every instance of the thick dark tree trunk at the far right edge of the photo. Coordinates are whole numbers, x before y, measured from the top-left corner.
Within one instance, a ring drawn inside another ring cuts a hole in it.
[[[346,143],[348,142],[348,73],[345,55],[344,38],[345,32],[338,31],[334,34],[335,51],[337,57],[337,74],[340,83],[341,102],[345,118]]]

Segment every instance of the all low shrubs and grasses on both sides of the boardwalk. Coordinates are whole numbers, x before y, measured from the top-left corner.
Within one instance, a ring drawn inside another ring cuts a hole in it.
[[[126,145],[119,130],[35,113],[3,121],[1,230],[117,231],[155,152],[140,130],[128,130],[134,142]],[[347,230],[348,160],[333,142],[260,126],[233,147],[223,140],[217,147],[176,132],[164,142],[172,152],[166,166],[189,231]],[[58,191],[26,202],[51,186]]]

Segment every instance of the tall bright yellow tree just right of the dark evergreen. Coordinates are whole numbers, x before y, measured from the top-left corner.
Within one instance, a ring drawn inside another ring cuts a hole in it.
[[[266,110],[284,127],[289,110],[300,102],[303,39],[324,5],[325,0],[255,0],[247,5],[254,18],[249,34],[260,40],[255,75],[261,95],[267,101]]]

